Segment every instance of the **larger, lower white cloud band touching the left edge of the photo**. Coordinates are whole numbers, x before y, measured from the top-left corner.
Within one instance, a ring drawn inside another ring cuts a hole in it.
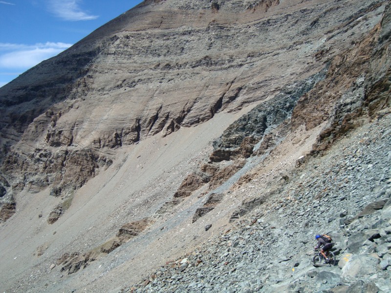
[[[71,45],[62,42],[35,45],[0,43],[0,70],[28,69],[43,60],[56,56]]]

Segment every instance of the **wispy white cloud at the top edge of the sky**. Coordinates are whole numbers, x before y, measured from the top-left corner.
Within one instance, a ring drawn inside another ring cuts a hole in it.
[[[79,7],[80,0],[49,0],[49,9],[65,21],[90,21],[99,16],[90,15]]]

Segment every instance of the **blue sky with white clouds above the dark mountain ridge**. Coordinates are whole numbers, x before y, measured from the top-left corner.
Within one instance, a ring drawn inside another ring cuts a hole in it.
[[[0,0],[0,87],[142,0]]]

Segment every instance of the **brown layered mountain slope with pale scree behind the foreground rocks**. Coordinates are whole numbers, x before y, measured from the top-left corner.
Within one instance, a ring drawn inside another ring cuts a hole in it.
[[[2,87],[0,289],[117,292],[287,192],[388,117],[387,4],[144,1]]]

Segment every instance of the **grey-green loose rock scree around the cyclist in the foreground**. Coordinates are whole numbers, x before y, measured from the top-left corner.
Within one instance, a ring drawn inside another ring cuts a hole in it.
[[[386,115],[310,158],[280,189],[249,199],[246,216],[187,255],[186,268],[179,260],[162,266],[133,291],[389,292],[390,125]],[[354,220],[341,225],[345,217]],[[338,266],[313,267],[317,233],[333,238]]]

